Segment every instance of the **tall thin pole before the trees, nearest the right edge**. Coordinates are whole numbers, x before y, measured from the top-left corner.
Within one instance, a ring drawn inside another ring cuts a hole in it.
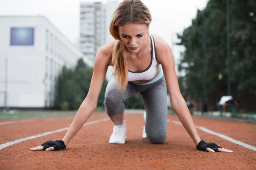
[[[231,95],[231,71],[230,71],[230,3],[226,0],[226,14],[227,14],[227,95]]]

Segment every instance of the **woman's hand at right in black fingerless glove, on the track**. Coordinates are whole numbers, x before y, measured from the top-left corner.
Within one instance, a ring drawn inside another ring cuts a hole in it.
[[[198,150],[204,150],[208,152],[233,152],[232,150],[227,150],[222,148],[221,146],[218,146],[215,143],[207,143],[204,140],[201,140],[198,145],[196,146]]]

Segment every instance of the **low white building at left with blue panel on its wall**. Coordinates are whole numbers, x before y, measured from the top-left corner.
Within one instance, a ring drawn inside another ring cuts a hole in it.
[[[0,108],[50,108],[63,65],[93,66],[44,16],[0,16],[0,37]]]

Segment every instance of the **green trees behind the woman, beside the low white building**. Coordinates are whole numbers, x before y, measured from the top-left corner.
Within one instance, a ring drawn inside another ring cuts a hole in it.
[[[64,66],[58,77],[56,85],[55,109],[77,110],[84,98],[87,96],[90,82],[93,76],[93,68],[87,66],[83,59],[79,59],[75,68],[70,69]],[[103,101],[107,87],[105,79],[102,90],[99,94],[97,107],[104,108]],[[125,108],[144,108],[139,94],[134,95],[125,102]]]

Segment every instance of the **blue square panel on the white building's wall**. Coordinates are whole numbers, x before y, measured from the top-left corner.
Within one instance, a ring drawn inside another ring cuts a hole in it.
[[[34,45],[34,28],[11,28],[11,45]]]

